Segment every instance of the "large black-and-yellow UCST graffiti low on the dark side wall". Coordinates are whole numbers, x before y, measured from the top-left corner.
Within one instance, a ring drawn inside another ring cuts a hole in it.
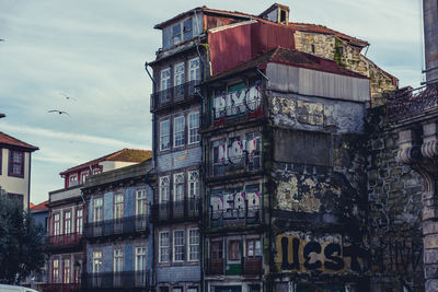
[[[281,271],[364,272],[367,252],[356,244],[342,244],[341,236],[308,240],[302,234],[277,236],[275,262]]]

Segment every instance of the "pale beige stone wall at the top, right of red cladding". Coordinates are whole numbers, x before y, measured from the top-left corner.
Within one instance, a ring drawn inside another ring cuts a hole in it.
[[[298,50],[335,60],[342,67],[370,78],[372,106],[384,103],[384,91],[397,89],[397,80],[394,77],[380,69],[357,48],[334,35],[296,32],[295,42]]]

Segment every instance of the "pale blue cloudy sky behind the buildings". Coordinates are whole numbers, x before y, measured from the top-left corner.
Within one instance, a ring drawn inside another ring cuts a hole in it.
[[[289,21],[368,40],[367,57],[419,86],[420,0],[284,0]],[[161,47],[153,26],[195,7],[260,14],[267,0],[0,0],[0,131],[39,148],[31,201],[60,189],[59,173],[124,148],[151,149],[145,61]],[[71,97],[71,98],[67,98]],[[66,110],[69,115],[48,113]]]

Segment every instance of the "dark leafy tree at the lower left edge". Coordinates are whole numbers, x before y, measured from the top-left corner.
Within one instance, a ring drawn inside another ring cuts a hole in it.
[[[0,283],[20,283],[43,267],[43,236],[16,200],[0,196]]]

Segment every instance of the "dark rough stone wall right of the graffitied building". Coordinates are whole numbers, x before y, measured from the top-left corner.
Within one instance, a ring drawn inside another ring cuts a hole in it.
[[[372,291],[424,291],[420,178],[396,160],[385,107],[369,109],[367,122]]]

